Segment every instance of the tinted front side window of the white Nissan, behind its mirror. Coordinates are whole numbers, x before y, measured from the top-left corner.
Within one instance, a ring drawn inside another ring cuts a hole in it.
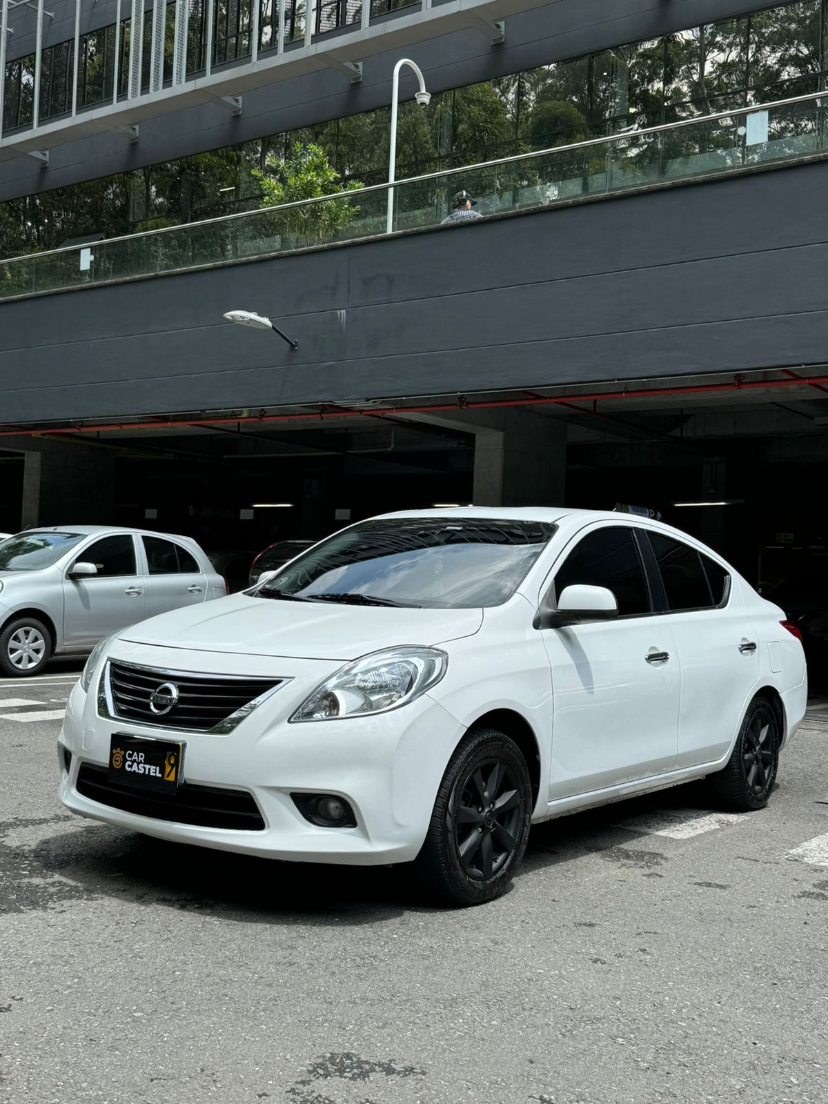
[[[650,612],[638,548],[623,526],[598,529],[570,552],[555,574],[555,595],[578,584],[612,591],[622,616]]]

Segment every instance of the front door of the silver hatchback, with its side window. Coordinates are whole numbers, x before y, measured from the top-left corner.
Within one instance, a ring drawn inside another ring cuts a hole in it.
[[[70,578],[75,563],[94,563],[96,575]],[[120,628],[144,620],[144,576],[136,573],[135,538],[102,537],[83,548],[63,578],[64,643],[93,647]]]

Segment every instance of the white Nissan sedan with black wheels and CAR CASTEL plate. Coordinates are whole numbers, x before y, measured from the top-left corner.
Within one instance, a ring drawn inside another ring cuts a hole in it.
[[[60,796],[229,851],[415,860],[474,904],[508,885],[530,822],[705,776],[762,808],[805,699],[796,628],[669,526],[393,513],[103,640]]]

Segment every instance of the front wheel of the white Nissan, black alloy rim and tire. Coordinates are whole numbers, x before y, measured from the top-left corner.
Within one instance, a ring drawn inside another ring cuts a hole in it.
[[[526,851],[532,784],[514,743],[495,729],[466,734],[448,762],[416,866],[449,905],[500,896]]]

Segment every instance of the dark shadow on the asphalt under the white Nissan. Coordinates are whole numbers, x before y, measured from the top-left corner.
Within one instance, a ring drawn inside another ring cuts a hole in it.
[[[702,787],[687,785],[539,825],[516,881],[588,854],[661,877],[662,841],[638,830],[635,818],[670,809],[711,811]],[[645,835],[647,846],[636,849]],[[31,877],[54,879],[55,889],[71,883],[73,900],[114,898],[237,923],[360,925],[412,910],[442,911],[428,902],[411,866],[279,862],[170,843],[97,822],[57,832],[29,856]]]

